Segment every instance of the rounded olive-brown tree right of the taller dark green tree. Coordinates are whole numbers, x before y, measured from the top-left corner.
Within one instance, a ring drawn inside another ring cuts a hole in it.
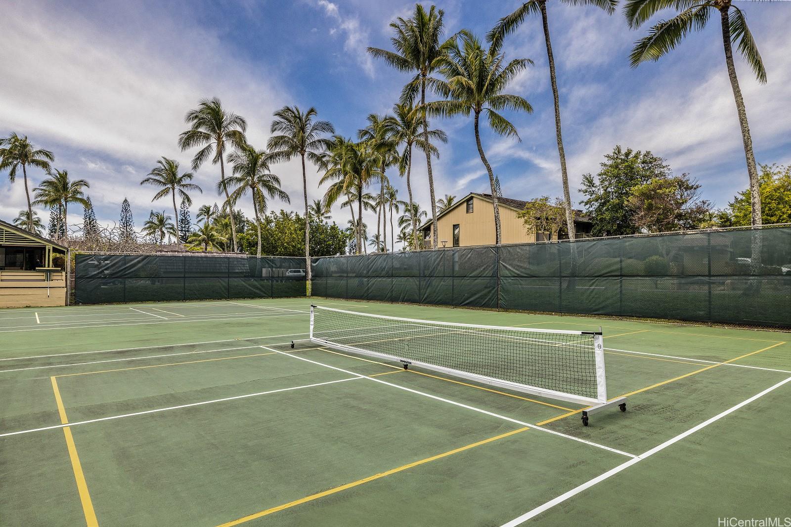
[[[687,174],[653,178],[634,186],[627,204],[641,232],[671,232],[700,228],[711,203],[700,198],[700,184]]]

